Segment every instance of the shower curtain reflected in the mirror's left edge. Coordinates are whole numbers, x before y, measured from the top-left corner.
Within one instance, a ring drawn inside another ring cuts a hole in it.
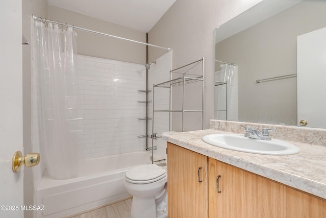
[[[221,64],[215,72],[215,119],[238,120],[238,66]],[[218,84],[218,83],[216,83]]]

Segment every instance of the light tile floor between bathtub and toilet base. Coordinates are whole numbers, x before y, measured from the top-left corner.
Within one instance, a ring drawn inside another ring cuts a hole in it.
[[[130,218],[132,198],[67,218]]]

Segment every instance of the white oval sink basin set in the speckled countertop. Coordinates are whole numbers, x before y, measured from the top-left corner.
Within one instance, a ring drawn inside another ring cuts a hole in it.
[[[290,155],[300,152],[298,147],[286,141],[253,139],[238,134],[210,134],[203,136],[202,140],[212,146],[254,154]]]

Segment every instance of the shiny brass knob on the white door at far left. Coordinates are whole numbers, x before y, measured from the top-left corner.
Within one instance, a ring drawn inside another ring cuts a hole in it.
[[[26,167],[36,166],[40,162],[39,153],[28,153],[22,156],[20,151],[15,152],[12,157],[12,171],[18,172],[21,165],[25,164]]]

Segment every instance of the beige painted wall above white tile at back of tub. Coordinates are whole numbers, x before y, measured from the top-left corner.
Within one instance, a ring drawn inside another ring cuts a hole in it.
[[[146,42],[146,33],[131,30],[113,23],[94,19],[82,14],[67,11],[58,7],[48,7],[48,18],[76,27],[115,35],[136,41]],[[77,53],[99,58],[145,64],[146,46],[112,37],[76,30]]]

